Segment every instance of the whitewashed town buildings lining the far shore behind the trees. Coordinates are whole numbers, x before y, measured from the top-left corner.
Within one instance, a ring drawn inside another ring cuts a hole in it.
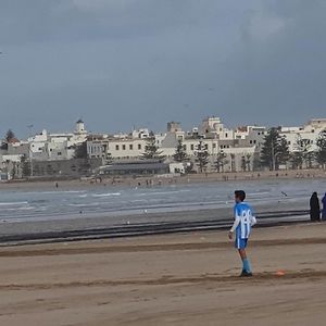
[[[326,118],[312,120],[302,127],[281,127],[280,135],[287,138],[290,151],[297,150],[298,139],[308,139],[310,150],[314,151],[318,135],[325,128]],[[155,145],[166,156],[166,161],[173,162],[178,141],[181,140],[188,160],[195,162],[198,146],[202,142],[210,155],[208,171],[215,168],[221,153],[225,154],[224,171],[248,171],[253,168],[254,161],[259,161],[266,134],[267,128],[264,126],[249,125],[230,129],[225,127],[220,117],[212,116],[203,120],[191,131],[184,131],[180,123],[171,122],[165,133],[155,135]],[[150,136],[148,128],[128,134],[88,135],[84,122],[79,120],[73,133],[49,134],[42,130],[28,138],[27,142],[10,143],[0,155],[2,161],[4,158],[7,161],[18,162],[22,155],[27,155],[29,161],[58,161],[59,164],[59,161],[75,158],[76,148],[86,142],[89,159],[100,159],[103,164],[113,159],[123,164],[130,163],[145,153]]]

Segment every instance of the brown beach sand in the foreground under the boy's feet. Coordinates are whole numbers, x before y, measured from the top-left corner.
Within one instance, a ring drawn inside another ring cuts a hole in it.
[[[255,228],[246,279],[225,231],[3,247],[0,325],[325,325],[325,231]]]

